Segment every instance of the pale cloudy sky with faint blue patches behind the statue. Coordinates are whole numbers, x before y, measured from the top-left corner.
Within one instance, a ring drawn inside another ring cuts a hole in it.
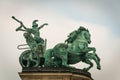
[[[27,27],[34,19],[41,29],[41,37],[47,39],[47,48],[64,42],[67,35],[84,26],[91,33],[92,44],[101,58],[102,70],[96,65],[90,70],[95,80],[120,80],[120,1],[119,0],[1,0],[0,1],[0,80],[20,80],[19,56],[16,47],[25,43],[22,32],[15,32],[19,23]],[[78,68],[88,66],[83,63]]]

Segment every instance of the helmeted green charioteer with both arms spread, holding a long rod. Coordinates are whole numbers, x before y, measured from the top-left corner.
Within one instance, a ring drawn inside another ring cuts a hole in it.
[[[34,20],[33,23],[32,23],[32,28],[26,28],[24,26],[24,24],[22,23],[22,21],[19,21],[14,16],[12,16],[12,18],[21,24],[20,27],[18,27],[16,29],[16,31],[25,31],[25,32],[29,33],[31,36],[33,34],[34,40],[36,41],[36,43],[38,44],[38,46],[40,46],[41,53],[43,53],[44,52],[43,51],[44,50],[44,48],[43,48],[44,47],[44,40],[40,37],[39,30],[41,28],[43,28],[45,25],[48,25],[48,24],[44,23],[43,25],[41,25],[40,27],[38,27],[38,24],[36,23],[36,22],[38,22],[38,20]]]

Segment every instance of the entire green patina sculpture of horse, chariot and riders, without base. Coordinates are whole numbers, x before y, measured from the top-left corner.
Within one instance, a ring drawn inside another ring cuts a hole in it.
[[[38,20],[34,20],[32,28],[26,28],[24,24],[12,16],[14,20],[21,25],[16,31],[24,31],[24,37],[27,44],[18,46],[18,49],[27,49],[21,53],[19,62],[22,67],[70,67],[70,64],[76,64],[80,61],[90,66],[83,70],[88,71],[93,67],[91,60],[94,60],[97,69],[101,69],[100,58],[96,54],[94,47],[89,47],[91,35],[89,30],[80,26],[77,30],[71,32],[64,43],[58,43],[52,49],[46,50],[46,39],[40,37],[39,30],[48,25],[47,23],[38,27]],[[20,48],[28,45],[28,48]]]

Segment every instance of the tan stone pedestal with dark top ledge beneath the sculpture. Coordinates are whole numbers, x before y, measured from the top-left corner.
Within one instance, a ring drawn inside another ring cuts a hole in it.
[[[92,80],[90,73],[73,68],[23,68],[22,80]]]

